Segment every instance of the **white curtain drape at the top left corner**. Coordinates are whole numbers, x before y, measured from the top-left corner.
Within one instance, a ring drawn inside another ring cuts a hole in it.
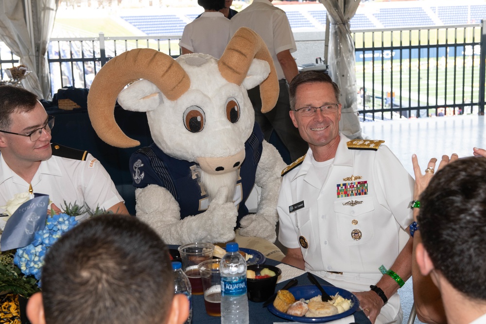
[[[0,39],[32,71],[22,85],[51,99],[46,51],[54,26],[56,0],[0,0]],[[27,10],[25,10],[25,8]]]

